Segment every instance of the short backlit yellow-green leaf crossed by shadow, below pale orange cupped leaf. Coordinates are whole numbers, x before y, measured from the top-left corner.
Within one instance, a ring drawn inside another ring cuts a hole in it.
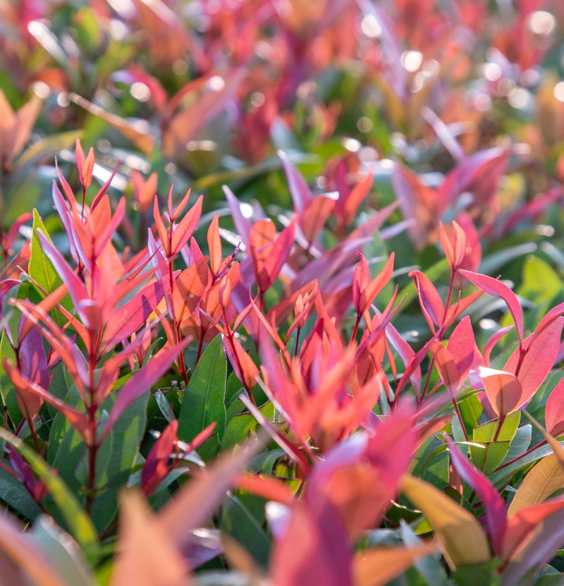
[[[520,420],[520,411],[511,413],[505,417],[499,433],[499,420],[489,421],[474,427],[472,439],[477,444],[484,446],[484,448],[470,446],[472,463],[474,463],[476,468],[482,470],[486,475],[496,470],[509,451],[511,441],[515,437]]]

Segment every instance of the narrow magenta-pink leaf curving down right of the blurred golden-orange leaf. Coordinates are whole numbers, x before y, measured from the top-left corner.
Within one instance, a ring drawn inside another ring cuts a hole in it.
[[[450,458],[453,460],[458,473],[477,492],[482,503],[484,503],[491,545],[494,547],[495,553],[501,556],[507,527],[507,506],[505,506],[505,502],[499,496],[488,477],[477,468],[474,468],[465,456],[462,456],[462,453],[460,453],[460,450],[450,437],[445,435],[444,438],[450,451]]]

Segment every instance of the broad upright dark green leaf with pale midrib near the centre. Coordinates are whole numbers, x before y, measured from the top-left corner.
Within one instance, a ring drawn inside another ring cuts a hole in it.
[[[202,429],[216,422],[216,433],[198,449],[204,460],[216,455],[223,437],[226,384],[227,359],[221,337],[216,336],[195,367],[178,416],[178,439],[186,442],[192,441]]]

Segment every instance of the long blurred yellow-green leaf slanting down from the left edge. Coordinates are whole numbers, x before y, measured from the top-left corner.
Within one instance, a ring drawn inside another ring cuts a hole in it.
[[[80,507],[75,494],[68,489],[59,475],[51,472],[51,468],[49,468],[45,460],[38,456],[32,448],[24,444],[19,437],[0,427],[0,438],[16,448],[20,455],[30,464],[32,470],[43,479],[56,506],[61,511],[66,525],[68,525],[73,537],[82,547],[82,551],[85,551],[87,556],[94,556],[97,549],[97,532],[88,515]]]

